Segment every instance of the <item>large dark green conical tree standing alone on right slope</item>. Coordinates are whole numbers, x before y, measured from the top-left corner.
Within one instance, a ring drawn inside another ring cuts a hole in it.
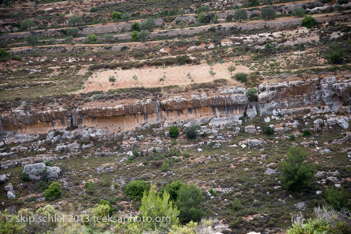
[[[300,190],[311,183],[315,171],[304,162],[307,155],[308,152],[300,147],[290,147],[287,158],[279,163],[281,182],[285,189]]]

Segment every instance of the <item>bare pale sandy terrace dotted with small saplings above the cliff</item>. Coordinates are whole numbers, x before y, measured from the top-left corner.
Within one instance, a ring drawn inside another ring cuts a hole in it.
[[[214,64],[212,66],[215,76],[211,76],[210,66],[207,64],[201,65],[187,65],[187,66],[173,66],[162,68],[141,68],[141,69],[130,69],[130,70],[107,70],[107,71],[97,71],[95,72],[85,83],[85,89],[80,90],[77,93],[81,92],[91,92],[94,90],[108,91],[110,89],[117,88],[132,88],[135,87],[135,81],[133,76],[136,75],[137,87],[159,87],[159,86],[168,86],[168,85],[188,85],[191,84],[191,80],[194,80],[194,83],[203,83],[210,82],[216,79],[230,79],[231,75],[228,72],[227,68],[231,66],[231,63],[225,64]],[[235,66],[236,70],[233,72],[233,75],[238,72],[250,73],[248,67],[245,66]],[[187,76],[190,73],[191,79]],[[161,77],[165,74],[165,79],[162,82],[159,81]],[[116,82],[112,85],[108,81],[110,76],[114,76]]]

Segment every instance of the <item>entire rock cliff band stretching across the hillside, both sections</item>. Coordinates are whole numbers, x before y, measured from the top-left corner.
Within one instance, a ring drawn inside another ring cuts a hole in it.
[[[147,99],[113,107],[60,108],[39,112],[14,110],[2,114],[0,131],[44,133],[71,124],[118,131],[163,120],[239,117],[244,112],[253,118],[257,114],[270,115],[279,109],[331,112],[342,106],[351,106],[351,80],[340,82],[335,77],[260,85],[257,102],[248,100],[244,88],[219,91],[221,95],[203,93],[191,98]]]

